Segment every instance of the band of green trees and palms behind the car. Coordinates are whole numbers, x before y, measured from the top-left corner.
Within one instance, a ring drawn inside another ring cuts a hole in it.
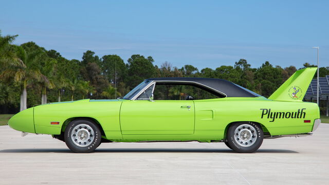
[[[133,54],[125,63],[116,54],[100,58],[90,50],[83,53],[82,60],[68,60],[56,50],[46,50],[34,42],[12,44],[17,36],[2,36],[0,32],[0,114],[47,102],[115,99],[144,79],[155,77],[220,78],[269,97],[297,70],[295,66],[272,66],[268,61],[252,68],[245,59],[216,69],[198,70],[192,65],[178,68],[168,62],[157,66],[151,56],[140,54]],[[329,67],[319,71],[324,77]]]

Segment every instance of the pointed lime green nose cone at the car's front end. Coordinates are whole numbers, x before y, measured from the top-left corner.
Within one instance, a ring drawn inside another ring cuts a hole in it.
[[[15,114],[8,121],[8,125],[16,131],[35,133],[33,121],[33,107]]]

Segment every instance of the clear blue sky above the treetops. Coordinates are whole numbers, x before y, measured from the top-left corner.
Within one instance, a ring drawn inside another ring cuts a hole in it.
[[[86,50],[216,68],[246,59],[329,66],[328,1],[2,1],[2,34],[67,59]]]

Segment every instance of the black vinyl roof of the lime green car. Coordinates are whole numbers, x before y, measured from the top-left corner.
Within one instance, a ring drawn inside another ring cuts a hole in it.
[[[209,90],[215,89],[225,94],[226,97],[258,97],[257,94],[234,83],[223,79],[212,78],[150,78],[147,80],[163,81],[165,83],[194,84],[206,86]],[[201,85],[200,85],[201,84]],[[210,87],[210,88],[209,88]],[[212,89],[211,89],[212,88]]]

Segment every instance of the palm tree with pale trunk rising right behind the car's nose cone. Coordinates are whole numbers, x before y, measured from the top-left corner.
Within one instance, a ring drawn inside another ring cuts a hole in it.
[[[33,51],[29,54],[21,46],[15,46],[16,56],[24,65],[11,64],[0,75],[1,79],[9,82],[12,78],[16,84],[21,86],[21,106],[20,111],[27,108],[26,87],[33,81],[39,81],[42,73],[36,68],[35,63],[41,52]]]

